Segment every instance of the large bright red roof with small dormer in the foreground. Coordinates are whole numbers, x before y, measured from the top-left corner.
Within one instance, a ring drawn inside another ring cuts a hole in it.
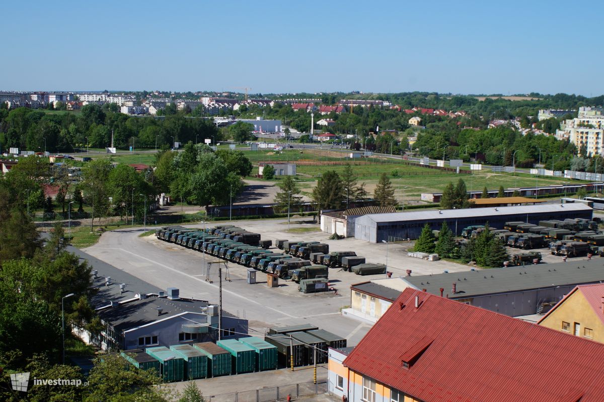
[[[602,402],[603,360],[604,344],[406,289],[344,365],[425,402]]]

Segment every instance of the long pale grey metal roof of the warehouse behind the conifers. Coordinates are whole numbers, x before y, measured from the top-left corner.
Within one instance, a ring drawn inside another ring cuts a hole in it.
[[[373,213],[356,218],[359,220],[370,219],[374,222],[402,222],[402,221],[427,221],[430,219],[455,219],[455,218],[481,218],[483,216],[506,216],[518,215],[523,213],[556,212],[564,211],[586,211],[592,210],[591,207],[582,203],[572,204],[542,204],[514,207],[496,207],[496,208],[465,208],[465,209],[443,209],[433,211],[414,211],[414,212],[396,212],[396,213]]]

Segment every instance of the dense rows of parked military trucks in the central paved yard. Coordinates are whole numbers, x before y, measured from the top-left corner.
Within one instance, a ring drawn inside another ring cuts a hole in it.
[[[358,275],[384,274],[386,269],[383,264],[367,263],[365,257],[357,256],[355,251],[330,253],[329,245],[321,242],[277,240],[275,245],[282,251],[271,251],[268,249],[272,247],[272,240],[261,240],[259,233],[234,225],[205,229],[162,227],[155,231],[155,236],[296,283],[327,279],[329,268],[341,268]]]

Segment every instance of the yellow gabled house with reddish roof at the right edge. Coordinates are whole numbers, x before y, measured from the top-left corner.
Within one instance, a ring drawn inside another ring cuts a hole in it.
[[[577,286],[538,322],[539,325],[604,343],[604,284]]]

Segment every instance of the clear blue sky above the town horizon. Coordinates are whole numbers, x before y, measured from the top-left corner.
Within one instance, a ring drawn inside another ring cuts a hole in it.
[[[13,1],[0,90],[604,93],[604,2]]]

